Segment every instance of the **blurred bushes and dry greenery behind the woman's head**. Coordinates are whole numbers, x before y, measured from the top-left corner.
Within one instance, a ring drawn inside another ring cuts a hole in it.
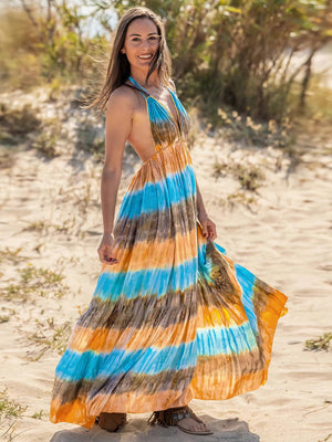
[[[291,149],[294,118],[331,120],[329,0],[2,0],[0,91],[45,87],[56,99],[74,86],[68,97],[89,96],[104,78],[118,15],[139,4],[164,18],[178,94],[211,128]],[[8,113],[2,103],[3,144],[34,129]]]

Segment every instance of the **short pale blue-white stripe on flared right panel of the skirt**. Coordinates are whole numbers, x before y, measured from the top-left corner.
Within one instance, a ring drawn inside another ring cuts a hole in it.
[[[197,329],[199,356],[239,355],[258,348],[250,323],[242,325]]]

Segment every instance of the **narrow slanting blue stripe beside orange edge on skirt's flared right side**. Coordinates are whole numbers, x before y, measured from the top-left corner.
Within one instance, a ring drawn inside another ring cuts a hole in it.
[[[242,297],[241,297],[242,305],[245,307],[247,317],[250,322],[251,328],[258,335],[257,317],[252,304],[256,276],[248,269],[237,263],[235,264],[235,271],[238,283],[242,288]]]

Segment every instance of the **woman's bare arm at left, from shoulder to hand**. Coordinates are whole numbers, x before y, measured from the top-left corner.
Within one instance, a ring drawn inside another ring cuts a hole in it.
[[[105,162],[101,180],[104,234],[97,251],[100,261],[106,264],[117,261],[112,253],[113,224],[124,147],[132,129],[132,97],[122,90],[114,91],[106,107]]]

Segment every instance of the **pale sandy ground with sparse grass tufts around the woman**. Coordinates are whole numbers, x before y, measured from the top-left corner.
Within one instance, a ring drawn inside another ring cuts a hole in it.
[[[332,332],[331,131],[299,143],[295,168],[282,149],[245,148],[219,135],[200,135],[191,149],[206,208],[217,224],[216,242],[289,296],[267,383],[226,401],[190,402],[215,432],[207,436],[149,428],[151,413],[129,414],[118,434],[49,421],[61,349],[101,270],[102,165],[74,151],[71,143],[51,160],[35,149],[14,154],[0,170],[0,388],[7,401],[23,409],[2,418],[3,441],[332,441],[332,351],[304,350],[307,339]],[[232,161],[263,171],[257,192],[241,189],[230,173],[214,176],[216,162]],[[128,150],[117,209],[139,165]]]

